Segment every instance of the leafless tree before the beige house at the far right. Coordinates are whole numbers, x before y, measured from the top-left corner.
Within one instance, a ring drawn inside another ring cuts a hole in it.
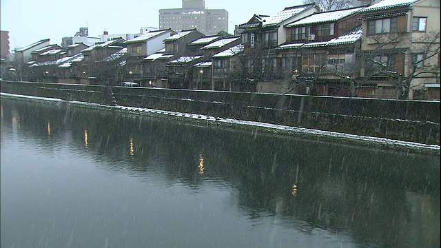
[[[373,49],[362,52],[365,81],[386,78],[395,89],[396,99],[409,99],[411,90],[421,89],[425,80],[439,80],[439,31],[422,34],[412,42],[405,33],[369,39]]]

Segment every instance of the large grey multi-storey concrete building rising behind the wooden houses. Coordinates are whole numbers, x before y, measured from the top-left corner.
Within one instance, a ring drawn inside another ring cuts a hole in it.
[[[205,0],[182,0],[182,8],[159,10],[159,29],[175,31],[196,28],[206,35],[228,32],[227,10],[209,10]]]

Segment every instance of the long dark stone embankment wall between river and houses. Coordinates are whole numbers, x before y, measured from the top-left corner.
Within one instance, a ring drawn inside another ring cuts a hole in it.
[[[439,101],[1,82],[1,92],[147,107],[440,145]]]

